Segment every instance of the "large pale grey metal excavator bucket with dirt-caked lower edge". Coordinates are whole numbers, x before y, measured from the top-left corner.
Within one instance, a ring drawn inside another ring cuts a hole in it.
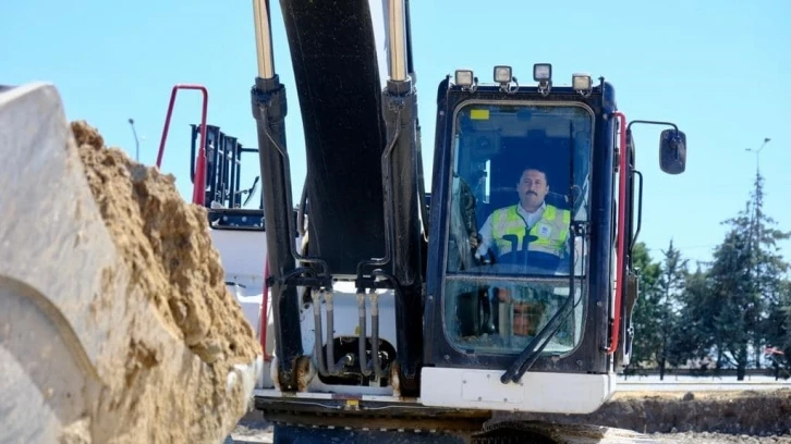
[[[221,442],[246,412],[260,356],[196,351],[162,321],[138,284],[147,272],[102,220],[112,202],[95,198],[52,85],[0,86],[0,442]],[[186,296],[190,317],[200,295]]]

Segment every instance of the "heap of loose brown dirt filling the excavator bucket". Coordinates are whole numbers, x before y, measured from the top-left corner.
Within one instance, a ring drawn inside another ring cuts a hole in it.
[[[175,177],[106,148],[85,122],[72,132],[101,217],[132,271],[132,284],[205,362],[238,362],[260,353],[252,328],[228,292],[211,246],[206,210],[187,205]]]

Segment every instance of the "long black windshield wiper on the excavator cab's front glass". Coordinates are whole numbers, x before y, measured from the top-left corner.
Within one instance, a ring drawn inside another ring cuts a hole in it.
[[[549,341],[555,337],[556,334],[558,334],[558,331],[560,330],[560,326],[565,322],[565,320],[569,318],[569,316],[572,313],[575,304],[572,304],[574,300],[574,279],[575,273],[575,263],[574,263],[574,240],[576,239],[577,235],[586,235],[585,224],[582,222],[576,222],[573,220],[573,211],[574,211],[574,121],[569,122],[569,152],[570,152],[570,161],[569,161],[569,193],[571,197],[571,211],[572,211],[572,221],[569,224],[569,240],[571,243],[569,255],[571,257],[570,262],[570,270],[569,270],[569,297],[565,298],[563,301],[563,306],[558,310],[555,316],[552,316],[552,319],[547,322],[547,324],[538,331],[538,333],[533,337],[533,340],[527,344],[527,347],[525,347],[524,350],[516,357],[516,360],[513,361],[511,367],[506,370],[506,372],[500,377],[500,382],[503,384],[508,384],[509,382],[519,382],[520,379],[522,379],[522,375],[530,370],[531,367],[538,360],[538,357],[541,355],[541,351],[544,351],[544,348],[549,344]]]

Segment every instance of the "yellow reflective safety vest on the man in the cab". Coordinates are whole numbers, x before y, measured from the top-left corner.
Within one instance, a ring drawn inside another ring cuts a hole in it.
[[[525,220],[518,213],[518,208],[519,203],[495,210],[492,213],[491,235],[497,244],[498,255],[511,251],[511,240],[503,239],[503,236],[509,234],[518,238],[516,250],[522,248],[526,226]],[[562,258],[567,249],[570,223],[570,211],[547,205],[541,219],[530,231],[531,235],[538,238],[528,244],[527,250],[548,252]]]

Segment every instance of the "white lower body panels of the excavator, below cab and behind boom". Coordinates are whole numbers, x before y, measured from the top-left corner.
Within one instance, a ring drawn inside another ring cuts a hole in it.
[[[264,270],[266,263],[266,233],[264,231],[212,229],[212,242],[221,256],[226,269],[229,291],[236,296],[247,321],[260,340],[264,300]],[[299,247],[302,238],[295,238]],[[357,301],[353,283],[339,282],[334,286],[334,337],[357,336]],[[275,350],[275,325],[271,312],[271,292],[268,291],[266,308],[267,341],[266,353]],[[370,299],[366,303],[367,333],[370,333]],[[326,304],[321,304],[321,322],[326,328]],[[305,354],[313,356],[315,345],[315,323],[313,307],[301,307],[302,346]],[[393,346],[396,337],[396,312],[392,292],[382,291],[379,297],[379,337]],[[327,341],[326,334],[323,338]],[[285,396],[275,384],[272,371],[277,357],[265,360],[255,396]],[[362,385],[331,385],[320,381],[315,371],[316,361],[304,375],[305,390],[288,397],[305,399],[329,399],[337,394],[352,396],[361,400],[387,403],[416,403],[431,407],[474,408],[533,412],[586,414],[595,411],[616,390],[616,374],[562,374],[527,372],[519,384],[503,385],[499,382],[500,372],[476,369],[424,368],[421,377],[423,384],[419,398],[404,398],[398,386],[385,387]]]

